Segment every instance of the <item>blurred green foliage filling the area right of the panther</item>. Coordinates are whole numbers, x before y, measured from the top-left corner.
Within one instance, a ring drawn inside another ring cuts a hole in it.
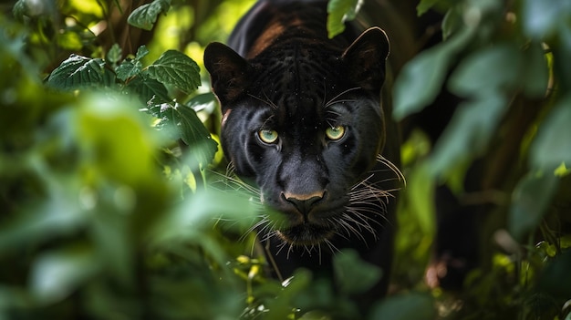
[[[547,290],[545,283],[569,278],[547,270],[571,270],[571,132],[563,125],[571,121],[571,29],[562,23],[571,6],[423,0],[419,13],[431,7],[444,13],[443,41],[403,67],[394,88],[395,116],[428,108],[441,88],[461,102],[432,150],[409,159],[415,185],[406,202],[424,200],[430,186],[445,184],[459,199],[485,208],[482,264],[464,283],[462,310],[448,316],[567,318],[568,284]],[[418,142],[408,143],[405,148]],[[451,300],[438,299],[443,305]]]

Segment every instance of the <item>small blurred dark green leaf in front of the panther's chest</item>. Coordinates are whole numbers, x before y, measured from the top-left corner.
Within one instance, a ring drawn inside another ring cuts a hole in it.
[[[361,260],[354,250],[337,253],[333,268],[339,290],[345,294],[363,293],[376,284],[382,276],[378,266]]]

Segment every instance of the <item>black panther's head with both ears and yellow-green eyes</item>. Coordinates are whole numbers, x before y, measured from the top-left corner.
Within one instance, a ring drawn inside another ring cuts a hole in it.
[[[345,50],[294,40],[246,60],[222,44],[207,47],[223,150],[273,212],[258,225],[267,236],[313,245],[374,228],[379,208],[371,206],[382,192],[366,181],[385,140],[379,93],[388,53],[379,28]]]

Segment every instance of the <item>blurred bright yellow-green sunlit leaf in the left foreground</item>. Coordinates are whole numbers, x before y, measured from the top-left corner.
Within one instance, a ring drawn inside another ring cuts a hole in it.
[[[152,179],[158,136],[133,101],[118,96],[87,96],[75,120],[87,165],[101,178],[127,185]],[[157,172],[158,173],[158,172]],[[147,181],[148,182],[148,181]]]

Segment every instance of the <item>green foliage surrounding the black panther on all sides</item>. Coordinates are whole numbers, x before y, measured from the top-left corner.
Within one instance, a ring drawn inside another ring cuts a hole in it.
[[[338,292],[303,270],[265,278],[247,233],[259,208],[217,173],[202,47],[251,4],[20,0],[15,19],[0,15],[0,319],[354,318],[348,296],[379,270],[348,251]],[[329,2],[330,36],[360,5]],[[396,75],[394,114],[428,108],[442,88],[462,104],[433,146],[418,129],[403,145],[398,293],[370,318],[566,319],[571,6],[417,9],[444,14],[443,39]],[[477,191],[465,188],[474,167]],[[422,282],[439,184],[492,208],[459,294]]]

